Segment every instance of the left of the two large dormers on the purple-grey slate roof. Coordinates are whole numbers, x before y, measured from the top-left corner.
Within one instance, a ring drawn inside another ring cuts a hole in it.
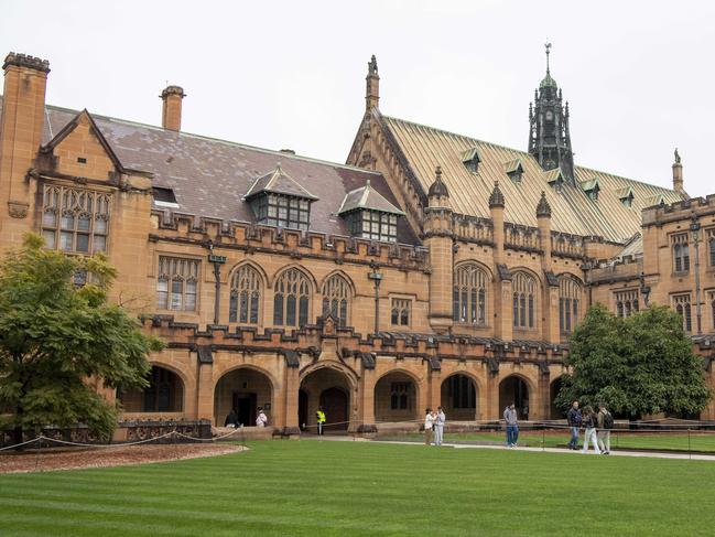
[[[311,203],[317,200],[285,173],[280,163],[253,181],[243,196],[251,204],[258,224],[294,229],[310,227]]]

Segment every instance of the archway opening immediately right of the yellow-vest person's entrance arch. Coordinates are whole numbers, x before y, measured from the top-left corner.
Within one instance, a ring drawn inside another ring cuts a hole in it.
[[[414,421],[422,416],[418,408],[418,383],[403,372],[380,377],[375,385],[376,421]]]

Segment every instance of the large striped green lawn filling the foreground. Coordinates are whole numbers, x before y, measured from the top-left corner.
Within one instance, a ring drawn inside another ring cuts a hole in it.
[[[8,536],[712,535],[715,463],[264,441],[210,459],[0,476]]]

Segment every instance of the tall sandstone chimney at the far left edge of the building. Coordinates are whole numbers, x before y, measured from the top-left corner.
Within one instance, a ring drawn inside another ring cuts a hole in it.
[[[45,90],[50,62],[11,52],[2,64],[4,89],[2,92],[2,122],[0,123],[0,224],[7,244],[20,240],[11,222],[3,216],[25,218],[33,200],[34,182],[25,175],[33,167],[42,143],[45,119]],[[7,211],[7,213],[6,213]],[[19,221],[18,221],[19,223]],[[14,226],[18,227],[18,226]],[[19,226],[18,234],[26,223]]]

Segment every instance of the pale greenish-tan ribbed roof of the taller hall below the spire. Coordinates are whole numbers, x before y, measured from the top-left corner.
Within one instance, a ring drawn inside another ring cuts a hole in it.
[[[489,195],[495,181],[500,181],[507,222],[535,227],[535,208],[541,191],[545,191],[552,210],[552,229],[625,241],[640,229],[640,213],[651,196],[662,194],[665,203],[681,200],[680,194],[670,189],[581,167],[575,169],[576,183],[564,182],[557,192],[549,184],[549,179],[553,181],[557,170],[544,172],[528,152],[382,116],[378,110],[372,114],[396,140],[424,192],[432,184],[434,169],[442,167],[443,181],[449,189],[452,207],[456,213],[489,217]],[[475,149],[481,160],[477,173],[467,170],[463,162],[464,155]],[[505,163],[516,159],[523,167],[518,184],[506,181],[505,170]],[[597,201],[591,200],[582,190],[582,182],[594,180],[600,187]],[[624,187],[632,189],[631,207],[626,207],[616,194]]]

